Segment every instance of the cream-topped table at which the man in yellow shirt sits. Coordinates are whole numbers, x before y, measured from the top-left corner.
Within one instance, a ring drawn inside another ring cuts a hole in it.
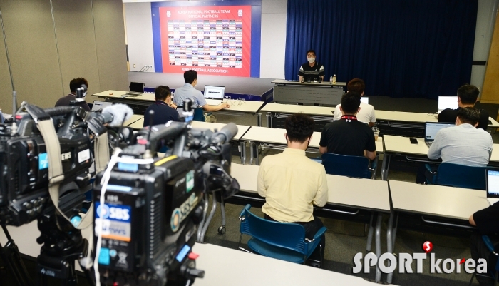
[[[232,197],[252,203],[265,199],[258,195],[257,176],[259,166],[232,163],[231,176],[240,184],[240,192]],[[359,210],[378,213],[374,229],[376,255],[381,255],[381,218],[383,213],[391,213],[388,183],[383,180],[349,178],[339,175],[326,175],[328,201],[324,208],[326,213],[341,215],[357,215]],[[347,208],[351,211],[339,210]],[[389,230],[391,231],[391,230]],[[367,250],[371,250],[372,229],[369,229]],[[381,272],[376,269],[376,281],[381,280]]]

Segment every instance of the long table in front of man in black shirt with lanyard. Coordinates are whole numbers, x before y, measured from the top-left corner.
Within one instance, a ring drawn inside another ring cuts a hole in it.
[[[274,150],[284,150],[287,146],[286,141],[286,129],[282,128],[267,128],[260,126],[252,126],[249,128],[249,131],[242,136],[241,141],[249,142],[251,148],[250,150],[250,164],[252,164],[252,158],[256,155],[256,163],[259,165],[259,152],[258,150],[261,148],[263,151],[265,149],[274,149]],[[321,133],[315,131],[312,134],[312,139],[310,140],[309,148],[307,152],[309,153],[317,153],[319,152],[319,142],[321,141]],[[255,147],[256,146],[256,147]],[[257,153],[254,154],[254,149],[257,150]],[[381,137],[376,141],[376,153],[383,153],[383,139]]]

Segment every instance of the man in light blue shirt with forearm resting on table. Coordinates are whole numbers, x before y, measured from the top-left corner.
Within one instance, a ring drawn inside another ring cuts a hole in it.
[[[184,73],[184,80],[184,86],[175,89],[175,98],[173,99],[175,105],[179,108],[179,112],[183,109],[184,101],[186,99],[190,99],[192,101],[194,108],[199,107],[204,111],[214,112],[220,111],[224,108],[230,108],[228,103],[220,103],[217,106],[210,106],[206,103],[205,96],[202,95],[201,91],[194,88],[197,85],[197,71],[186,71]]]

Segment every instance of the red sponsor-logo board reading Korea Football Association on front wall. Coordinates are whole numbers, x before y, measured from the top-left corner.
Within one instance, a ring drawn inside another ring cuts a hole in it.
[[[163,73],[250,76],[251,6],[160,7]]]

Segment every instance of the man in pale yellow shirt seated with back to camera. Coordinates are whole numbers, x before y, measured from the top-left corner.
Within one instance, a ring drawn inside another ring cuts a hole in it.
[[[267,220],[303,225],[306,237],[312,239],[323,226],[314,216],[314,205],[327,203],[326,170],[305,155],[314,120],[297,113],[286,119],[285,126],[287,148],[281,154],[266,156],[259,168],[257,189],[265,198],[262,212]],[[324,255],[324,236],[319,246],[310,259],[320,261],[319,255]]]

